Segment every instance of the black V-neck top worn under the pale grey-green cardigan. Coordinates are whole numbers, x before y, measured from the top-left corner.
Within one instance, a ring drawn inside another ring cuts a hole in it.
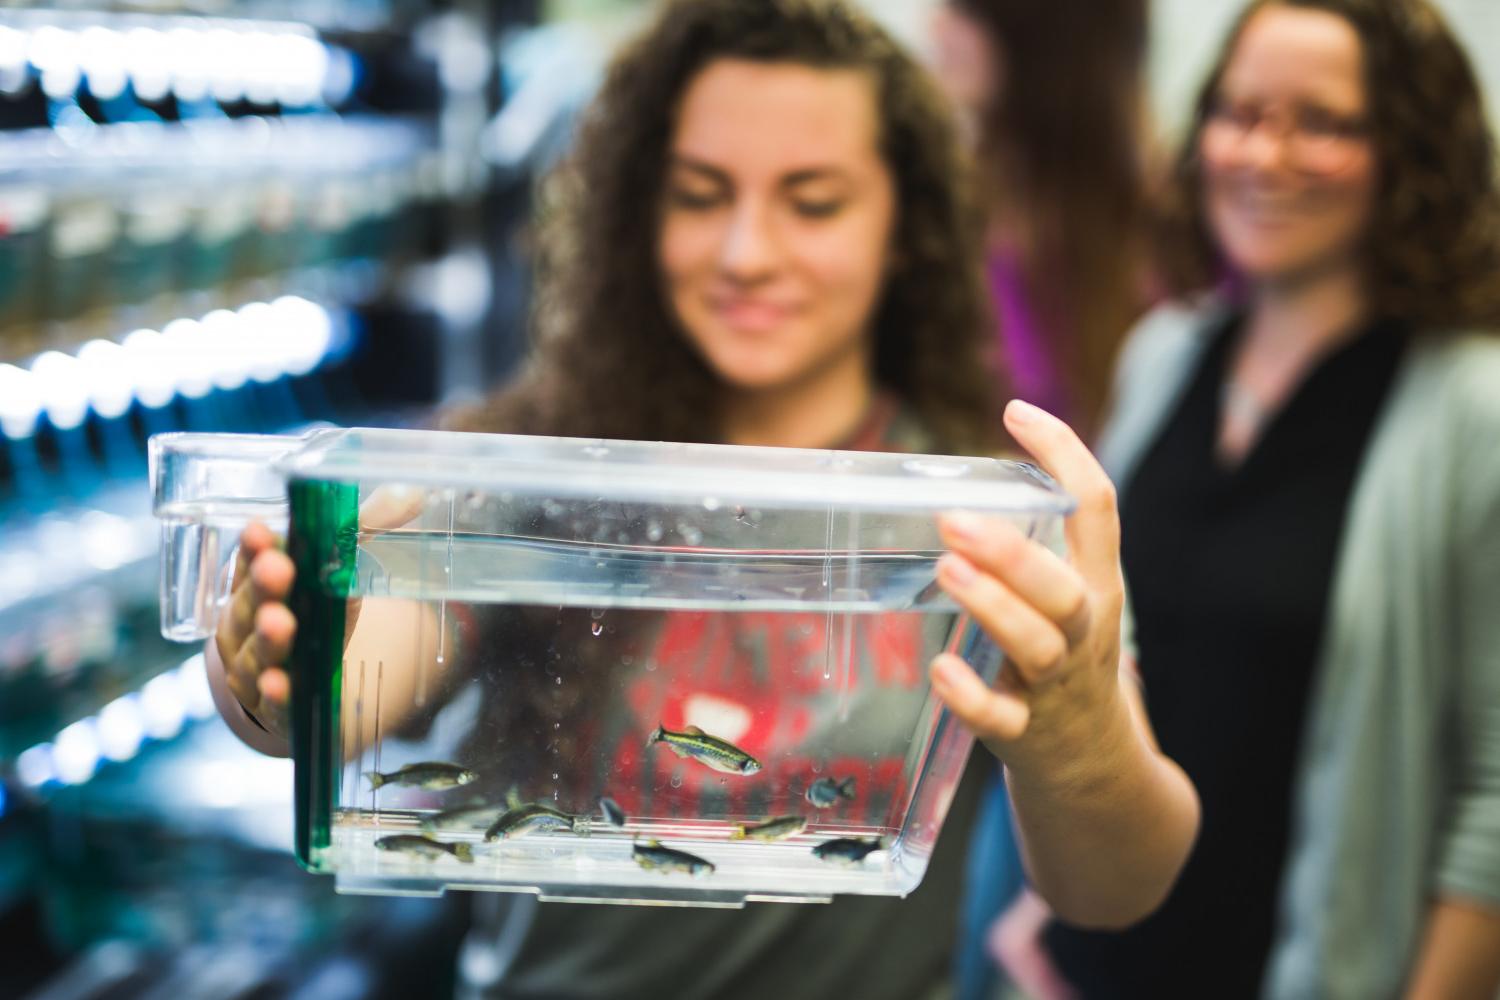
[[[1215,453],[1226,361],[1206,352],[1120,501],[1146,706],[1203,829],[1167,903],[1119,934],[1053,925],[1084,997],[1254,997],[1272,945],[1292,778],[1344,514],[1406,345],[1374,324],[1323,358],[1244,462]]]

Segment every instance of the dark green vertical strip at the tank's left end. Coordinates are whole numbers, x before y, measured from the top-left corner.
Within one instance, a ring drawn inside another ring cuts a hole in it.
[[[294,480],[286,553],[297,567],[291,612],[291,754],[296,765],[297,861],[326,871],[339,778],[344,624],[358,544],[358,487]]]

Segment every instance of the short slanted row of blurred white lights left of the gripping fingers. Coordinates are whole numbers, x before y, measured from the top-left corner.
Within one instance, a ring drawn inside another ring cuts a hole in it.
[[[177,669],[147,681],[141,690],[110,702],[98,715],[22,751],[15,762],[15,777],[27,789],[82,784],[102,763],[130,760],[148,741],[172,739],[189,721],[213,714],[202,654],[194,654]]]

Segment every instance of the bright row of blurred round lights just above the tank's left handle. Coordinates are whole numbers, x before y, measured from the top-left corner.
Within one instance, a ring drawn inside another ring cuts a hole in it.
[[[327,309],[284,295],[136,330],[118,343],[90,340],[76,354],[46,351],[27,367],[0,364],[0,432],[16,441],[36,433],[44,414],[72,430],[90,409],[112,420],[134,402],[158,409],[177,396],[308,375],[336,346],[334,333]]]

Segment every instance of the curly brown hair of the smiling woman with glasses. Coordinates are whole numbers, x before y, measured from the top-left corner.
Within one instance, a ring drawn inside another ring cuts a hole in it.
[[[1378,163],[1365,274],[1374,310],[1416,330],[1500,328],[1500,181],[1474,70],[1428,0],[1256,0],[1240,15],[1197,99],[1164,205],[1161,258],[1173,291],[1224,271],[1203,211],[1198,138],[1239,36],[1256,13],[1326,10],[1364,49]]]

